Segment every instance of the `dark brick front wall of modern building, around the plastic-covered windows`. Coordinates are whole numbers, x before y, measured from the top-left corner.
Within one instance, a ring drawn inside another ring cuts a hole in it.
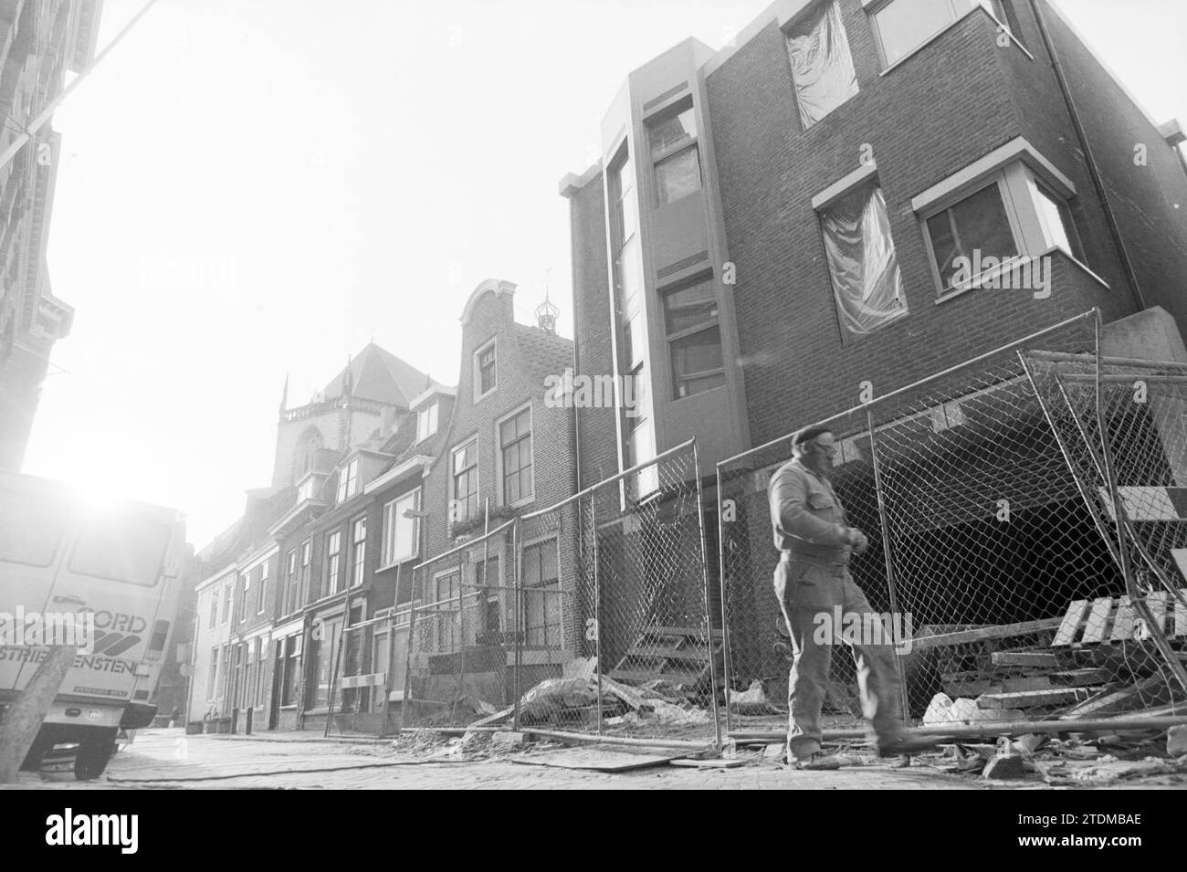
[[[1050,114],[1014,87],[1041,76],[1015,46],[1001,49],[988,15],[969,15],[886,75],[858,0],[842,0],[859,93],[801,131],[783,37],[772,23],[707,79],[754,444],[858,403],[859,383],[884,394],[1003,345],[1092,305],[1106,320],[1132,312],[1107,257],[1111,293],[1067,280],[1050,299],[973,291],[935,304],[935,286],[910,199],[1018,135],[1073,178],[1085,242],[1107,254],[1083,167],[1055,149],[1059,132],[1024,117]],[[1030,66],[1020,70],[1026,61]],[[1033,90],[1033,89],[1032,89]],[[1040,135],[1041,134],[1041,135]],[[1066,135],[1069,135],[1069,129]],[[811,198],[857,168],[872,146],[909,314],[877,332],[842,337],[819,218]],[[1085,218],[1087,217],[1087,221]],[[1094,263],[1093,266],[1097,266]],[[1099,287],[1099,286],[1098,286]]]

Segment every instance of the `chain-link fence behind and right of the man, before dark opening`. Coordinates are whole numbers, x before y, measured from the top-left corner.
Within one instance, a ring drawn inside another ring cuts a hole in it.
[[[1103,388],[1098,410],[1098,332],[1090,312],[819,422],[839,446],[832,483],[849,523],[870,540],[850,572],[893,630],[916,721],[1102,717],[1181,699],[1173,637],[1159,649],[1129,631],[1141,573],[1123,554],[1157,552],[1166,629],[1183,524],[1118,536],[1106,462],[1134,498],[1166,491],[1187,459],[1179,397],[1151,414],[1159,403],[1129,409]],[[1132,393],[1131,382],[1116,384]],[[772,590],[767,485],[792,435],[717,470],[726,681],[761,681],[773,699],[786,699],[791,644]],[[1111,622],[1104,638],[1085,636],[1080,611]],[[852,661],[832,662],[826,708],[858,714]]]

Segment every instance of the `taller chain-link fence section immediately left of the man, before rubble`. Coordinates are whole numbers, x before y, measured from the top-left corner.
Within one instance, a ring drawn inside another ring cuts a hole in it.
[[[703,524],[692,443],[520,518],[521,726],[716,740]]]

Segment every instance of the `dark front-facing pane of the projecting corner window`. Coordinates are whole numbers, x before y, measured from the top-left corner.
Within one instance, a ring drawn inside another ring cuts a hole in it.
[[[940,274],[941,294],[952,289],[953,278],[961,272],[961,259],[980,263],[986,256],[1001,261],[1018,254],[996,179],[929,217],[927,237]]]

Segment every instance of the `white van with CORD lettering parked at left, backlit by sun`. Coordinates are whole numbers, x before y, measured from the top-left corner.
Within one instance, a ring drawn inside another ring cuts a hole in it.
[[[0,707],[45,658],[37,642],[61,644],[69,626],[81,645],[26,766],[55,744],[77,743],[76,775],[95,777],[120,728],[152,721],[184,541],[173,509],[87,508],[61,483],[0,472]],[[58,635],[47,638],[51,625]]]

